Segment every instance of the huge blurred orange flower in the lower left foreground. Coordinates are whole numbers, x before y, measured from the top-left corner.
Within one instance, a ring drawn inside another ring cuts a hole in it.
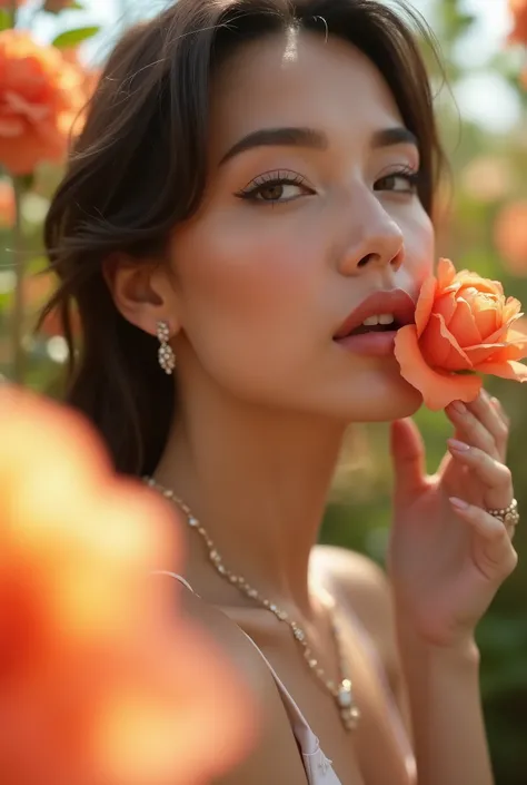
[[[221,775],[255,724],[178,585],[151,575],[180,562],[175,512],[72,412],[3,385],[0,432],[0,782]]]

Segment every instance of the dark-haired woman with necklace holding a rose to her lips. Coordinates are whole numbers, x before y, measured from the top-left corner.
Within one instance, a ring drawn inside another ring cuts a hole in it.
[[[179,0],[117,46],[51,205],[50,307],[82,324],[67,400],[179,509],[189,612],[261,703],[228,785],[493,781],[474,631],[516,563],[507,419],[449,406],[426,478],[392,353],[439,161],[384,4]],[[370,421],[392,423],[390,587],[315,547],[345,430]]]

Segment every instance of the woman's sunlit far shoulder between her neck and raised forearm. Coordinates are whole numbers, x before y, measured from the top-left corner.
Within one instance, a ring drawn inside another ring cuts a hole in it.
[[[397,689],[400,678],[391,588],[386,572],[361,553],[334,546],[317,546],[311,567],[344,608],[358,616]]]

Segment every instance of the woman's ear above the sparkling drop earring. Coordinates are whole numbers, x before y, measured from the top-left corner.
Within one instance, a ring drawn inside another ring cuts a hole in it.
[[[112,254],[102,264],[102,275],[119,313],[131,324],[156,335],[159,322],[170,335],[180,328],[178,302],[169,271],[162,262]]]

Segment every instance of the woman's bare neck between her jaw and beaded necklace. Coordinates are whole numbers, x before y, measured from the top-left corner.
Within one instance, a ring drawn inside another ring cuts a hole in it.
[[[190,507],[229,569],[308,616],[309,555],[345,425],[218,396],[210,403],[183,408],[156,480]],[[188,560],[191,572],[207,552],[190,543]]]

